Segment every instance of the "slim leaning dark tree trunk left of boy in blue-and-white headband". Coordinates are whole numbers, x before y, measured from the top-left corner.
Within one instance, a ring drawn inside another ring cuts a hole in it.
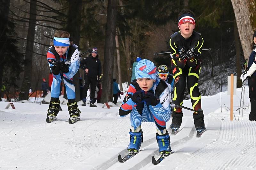
[[[31,85],[31,68],[36,30],[36,2],[37,0],[30,1],[27,45],[24,60],[24,78],[22,82],[22,88],[20,90],[20,100],[28,100],[28,91]]]

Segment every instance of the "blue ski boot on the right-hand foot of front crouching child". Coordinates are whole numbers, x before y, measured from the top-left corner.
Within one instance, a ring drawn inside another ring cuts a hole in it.
[[[158,144],[159,152],[161,155],[169,155],[172,151],[170,146],[170,135],[166,130],[165,134],[159,135],[159,132],[156,133],[156,141]]]

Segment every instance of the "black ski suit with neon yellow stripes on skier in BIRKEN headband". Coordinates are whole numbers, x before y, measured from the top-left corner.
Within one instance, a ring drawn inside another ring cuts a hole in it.
[[[184,100],[184,90],[186,88],[186,79],[188,90],[191,97],[191,103],[194,110],[201,109],[201,95],[198,89],[198,78],[199,72],[201,70],[201,50],[204,44],[204,39],[200,33],[193,31],[191,37],[185,39],[181,36],[180,31],[175,32],[171,35],[170,46],[171,46],[171,65],[173,77],[175,79],[175,88],[173,103],[176,105],[182,105]],[[184,50],[194,49],[194,56],[192,58],[186,58],[181,60],[179,57],[179,52],[183,48]],[[172,124],[174,126],[180,127],[181,117],[183,116],[181,108],[175,107],[172,113],[173,120]],[[193,118],[198,117],[196,113],[193,114]],[[177,118],[177,120],[175,120]],[[204,121],[200,117],[200,121]],[[175,122],[176,121],[176,122]],[[195,126],[199,127],[203,124]]]

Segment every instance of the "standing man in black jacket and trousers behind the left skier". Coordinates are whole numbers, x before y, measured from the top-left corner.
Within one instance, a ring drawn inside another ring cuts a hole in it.
[[[101,63],[97,53],[98,49],[96,47],[92,48],[92,52],[89,55],[89,57],[84,58],[84,60],[82,60],[80,64],[80,68],[82,68],[85,71],[82,106],[86,105],[87,91],[89,89],[89,85],[91,85],[90,107],[97,107],[94,104],[95,88],[97,85],[97,77],[99,80],[101,75]]]

